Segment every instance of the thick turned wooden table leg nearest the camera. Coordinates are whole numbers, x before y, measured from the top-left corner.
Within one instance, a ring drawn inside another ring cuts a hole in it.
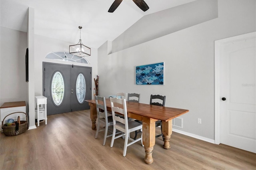
[[[150,118],[145,118],[142,121],[142,141],[144,144],[146,156],[144,161],[147,164],[152,164],[152,151],[156,143],[156,122]]]

